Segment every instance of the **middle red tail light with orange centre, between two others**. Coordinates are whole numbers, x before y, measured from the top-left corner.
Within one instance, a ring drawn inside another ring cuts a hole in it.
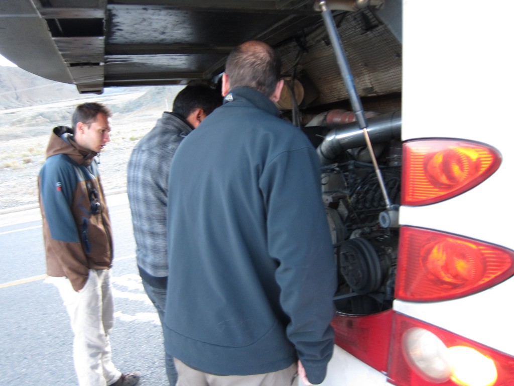
[[[512,275],[513,251],[442,232],[409,226],[400,229],[396,299],[455,299]]]

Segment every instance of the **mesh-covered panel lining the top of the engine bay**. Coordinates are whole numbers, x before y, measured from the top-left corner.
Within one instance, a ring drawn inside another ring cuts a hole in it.
[[[335,15],[334,19],[359,95],[400,92],[401,44],[387,26],[368,9]],[[297,76],[306,74],[314,82],[319,94],[314,104],[347,99],[348,93],[321,15],[320,24],[313,30],[305,31],[305,36],[307,51],[299,62]],[[285,72],[290,73],[298,49],[296,42],[279,48]]]

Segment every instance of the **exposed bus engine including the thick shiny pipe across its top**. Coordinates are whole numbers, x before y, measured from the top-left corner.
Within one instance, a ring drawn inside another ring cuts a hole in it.
[[[399,205],[400,113],[368,114],[374,116],[369,120],[370,136],[380,139],[380,142],[373,142],[373,151],[389,199],[393,205]],[[322,163],[321,189],[338,273],[336,309],[355,315],[380,312],[392,307],[398,227],[383,217],[387,205],[362,131],[355,123],[333,123],[342,117],[353,119],[353,113],[331,110],[322,115],[319,128],[333,128],[317,150]],[[327,157],[326,154],[330,155]]]

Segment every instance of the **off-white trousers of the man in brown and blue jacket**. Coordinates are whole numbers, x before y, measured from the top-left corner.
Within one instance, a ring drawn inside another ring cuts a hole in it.
[[[68,311],[74,332],[73,360],[80,386],[106,386],[120,377],[111,360],[109,334],[113,328],[114,302],[110,270],[89,270],[80,292],[65,277],[50,277]]]

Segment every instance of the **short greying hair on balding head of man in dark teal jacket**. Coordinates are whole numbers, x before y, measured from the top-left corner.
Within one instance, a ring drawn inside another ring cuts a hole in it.
[[[251,87],[270,97],[280,80],[282,61],[268,44],[250,40],[235,47],[227,58],[225,73],[230,89]]]

